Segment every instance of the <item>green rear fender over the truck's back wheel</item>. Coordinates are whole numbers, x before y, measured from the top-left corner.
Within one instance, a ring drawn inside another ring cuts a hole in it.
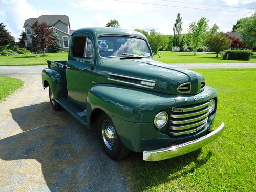
[[[51,87],[54,98],[68,97],[66,71],[63,69],[47,68],[42,70],[42,86],[45,88],[45,81]]]

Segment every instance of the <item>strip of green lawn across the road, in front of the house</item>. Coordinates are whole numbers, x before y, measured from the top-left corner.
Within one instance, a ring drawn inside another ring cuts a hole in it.
[[[17,56],[0,56],[0,66],[17,66],[17,65],[47,65],[46,59],[49,60],[68,60],[68,53],[47,53],[45,57],[35,57],[31,55]],[[37,54],[42,55],[42,54]]]

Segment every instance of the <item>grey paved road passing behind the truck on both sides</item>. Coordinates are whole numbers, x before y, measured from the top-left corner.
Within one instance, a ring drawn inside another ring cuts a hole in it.
[[[172,63],[170,65],[187,69],[209,68],[256,68],[256,63]],[[0,66],[0,74],[41,73],[47,65],[38,66]]]

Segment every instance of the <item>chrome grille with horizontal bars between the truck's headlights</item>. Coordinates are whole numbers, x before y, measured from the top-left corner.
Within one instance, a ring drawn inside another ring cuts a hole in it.
[[[209,102],[173,107],[170,112],[169,134],[180,136],[199,131],[207,124]]]

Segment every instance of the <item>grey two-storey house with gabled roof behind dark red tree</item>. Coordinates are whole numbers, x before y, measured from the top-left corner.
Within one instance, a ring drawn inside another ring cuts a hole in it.
[[[38,18],[29,18],[25,20],[23,27],[25,28],[26,39],[24,39],[25,47],[31,47],[31,36],[34,35],[32,26],[35,22],[46,22],[49,29],[57,32],[62,50],[69,49],[69,40],[73,30],[70,30],[69,17],[66,15],[41,15]]]

